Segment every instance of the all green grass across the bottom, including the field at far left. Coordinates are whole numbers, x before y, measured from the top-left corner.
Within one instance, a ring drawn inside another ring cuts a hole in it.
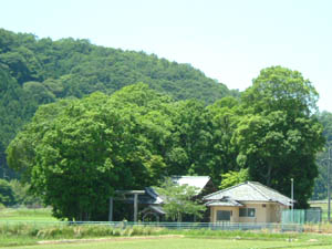
[[[19,222],[23,221],[23,222]],[[29,222],[30,225],[24,225]],[[32,222],[31,222],[32,221]],[[34,224],[33,221],[37,221]],[[20,249],[331,249],[332,236],[319,234],[270,234],[245,231],[211,231],[211,230],[152,230],[154,236],[138,234],[141,237],[129,237],[128,234],[107,236],[107,227],[66,227],[52,225],[56,221],[51,216],[51,209],[1,209],[0,210],[0,248]],[[41,224],[41,229],[37,225]],[[84,234],[86,230],[86,235]],[[100,230],[100,231],[98,231]],[[144,230],[144,229],[143,229]],[[123,230],[124,231],[124,230]],[[138,231],[142,231],[139,228]],[[331,228],[324,230],[330,232]],[[104,232],[104,235],[102,235]],[[107,235],[106,235],[106,234]],[[37,236],[37,234],[41,236]],[[43,236],[44,235],[44,236]],[[163,235],[163,236],[158,236]],[[170,236],[170,237],[169,237]],[[93,239],[101,238],[102,239]],[[74,242],[59,242],[59,240],[83,238]],[[56,242],[41,243],[41,240]]]

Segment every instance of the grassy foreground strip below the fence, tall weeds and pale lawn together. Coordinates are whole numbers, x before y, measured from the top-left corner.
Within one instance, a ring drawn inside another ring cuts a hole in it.
[[[166,238],[165,238],[166,237]],[[181,237],[181,238],[179,238]],[[102,240],[101,240],[102,238]],[[75,242],[68,240],[74,239]],[[49,241],[50,245],[40,245]],[[66,240],[66,243],[62,243]],[[84,241],[84,242],[83,242]],[[93,241],[93,242],[92,242]],[[60,242],[60,243],[59,243]],[[156,247],[156,243],[159,243]],[[29,247],[30,246],[30,247]],[[219,247],[220,246],[220,247]],[[101,225],[46,226],[2,225],[0,247],[11,248],[332,248],[332,236],[271,234],[270,231],[169,230],[153,227]]]

